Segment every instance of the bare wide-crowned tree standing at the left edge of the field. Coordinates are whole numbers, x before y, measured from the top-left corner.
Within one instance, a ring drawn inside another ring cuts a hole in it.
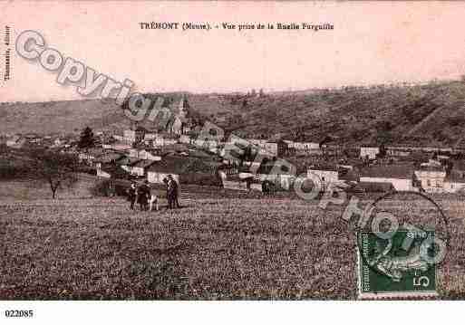
[[[37,149],[30,153],[29,174],[37,180],[45,180],[56,197],[58,189],[63,186],[73,187],[77,182],[79,164],[74,155]]]

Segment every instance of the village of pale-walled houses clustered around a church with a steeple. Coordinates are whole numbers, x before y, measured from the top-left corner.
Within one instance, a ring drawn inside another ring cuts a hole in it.
[[[111,134],[93,134],[86,128],[81,138],[91,137],[92,143],[84,147],[76,136],[28,133],[3,135],[1,139],[8,148],[42,147],[73,154],[102,179],[162,184],[165,177],[172,175],[181,186],[222,186],[269,193],[292,191],[296,177],[306,177],[322,192],[330,184],[364,193],[465,191],[464,148],[373,143],[347,146],[331,136],[312,142],[287,137],[200,139],[202,126],[189,118],[188,108],[184,96],[173,100],[173,114],[161,129],[133,123],[131,128]],[[282,168],[284,165],[290,167]]]

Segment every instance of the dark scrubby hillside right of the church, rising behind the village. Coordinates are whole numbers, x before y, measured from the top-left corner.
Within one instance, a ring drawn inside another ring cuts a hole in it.
[[[249,137],[283,133],[292,139],[300,131],[303,140],[333,135],[343,143],[360,143],[387,135],[397,143],[454,145],[465,135],[465,84],[460,81],[189,101],[225,129],[240,129]]]

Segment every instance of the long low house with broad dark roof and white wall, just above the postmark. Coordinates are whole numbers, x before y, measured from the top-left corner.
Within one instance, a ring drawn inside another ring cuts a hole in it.
[[[412,165],[366,167],[360,171],[360,182],[392,184],[396,191],[415,191]]]

